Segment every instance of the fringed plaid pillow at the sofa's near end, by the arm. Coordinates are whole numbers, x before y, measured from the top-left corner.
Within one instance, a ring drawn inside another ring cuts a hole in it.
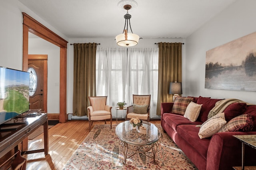
[[[252,116],[249,114],[237,116],[229,121],[219,132],[246,132],[253,128]]]

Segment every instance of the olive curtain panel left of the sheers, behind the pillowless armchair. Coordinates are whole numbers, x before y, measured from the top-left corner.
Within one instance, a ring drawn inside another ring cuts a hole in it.
[[[73,116],[87,115],[88,96],[96,96],[96,43],[74,43]]]

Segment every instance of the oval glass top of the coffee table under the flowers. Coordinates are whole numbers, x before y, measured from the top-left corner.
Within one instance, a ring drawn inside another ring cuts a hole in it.
[[[142,121],[142,126],[146,128],[146,134],[140,133],[138,127],[132,129],[133,125],[124,121],[116,126],[116,135],[120,140],[134,145],[152,144],[161,137],[161,132],[154,124]]]

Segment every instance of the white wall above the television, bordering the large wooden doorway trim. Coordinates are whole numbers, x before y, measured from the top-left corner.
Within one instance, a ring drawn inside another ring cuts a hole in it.
[[[22,12],[30,15],[65,40],[68,40],[66,36],[50,26],[18,0],[0,0],[0,65],[18,70],[22,70]]]

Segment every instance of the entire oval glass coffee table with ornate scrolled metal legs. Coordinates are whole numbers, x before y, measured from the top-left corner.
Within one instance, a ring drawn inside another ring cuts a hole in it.
[[[124,121],[116,126],[116,135],[120,139],[119,144],[122,146],[124,154],[124,164],[126,164],[126,158],[130,158],[136,153],[152,158],[156,164],[156,152],[160,144],[161,132],[152,123],[142,121],[142,125],[146,127],[146,134],[140,133],[138,127],[133,129],[133,125],[129,121]],[[150,150],[152,150],[151,155]],[[127,156],[127,152],[131,152],[129,156]]]

